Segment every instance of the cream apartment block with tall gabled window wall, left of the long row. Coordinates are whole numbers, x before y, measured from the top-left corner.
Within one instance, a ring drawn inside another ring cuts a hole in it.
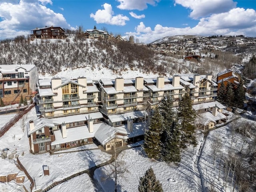
[[[44,117],[98,111],[99,90],[87,78],[39,80],[37,102]]]

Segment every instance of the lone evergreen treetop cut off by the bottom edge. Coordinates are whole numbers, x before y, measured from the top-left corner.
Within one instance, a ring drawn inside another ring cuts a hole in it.
[[[140,178],[139,192],[163,192],[162,184],[156,179],[154,170],[149,168],[145,175]]]

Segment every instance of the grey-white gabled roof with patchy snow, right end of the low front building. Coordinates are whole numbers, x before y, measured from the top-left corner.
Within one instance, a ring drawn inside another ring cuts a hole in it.
[[[94,137],[100,142],[102,145],[110,142],[114,137],[116,137],[116,133],[128,134],[128,132],[122,127],[112,127],[108,124],[102,123],[98,130],[95,132]],[[118,136],[121,138],[127,138],[127,136]]]

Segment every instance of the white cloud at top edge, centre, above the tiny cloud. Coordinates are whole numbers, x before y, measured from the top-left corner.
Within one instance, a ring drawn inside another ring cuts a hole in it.
[[[148,8],[147,4],[156,6],[156,3],[160,0],[117,0],[120,5],[117,8],[122,10],[144,10]]]

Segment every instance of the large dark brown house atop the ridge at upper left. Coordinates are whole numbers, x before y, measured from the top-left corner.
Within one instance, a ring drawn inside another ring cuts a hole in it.
[[[66,38],[66,32],[61,27],[45,26],[42,28],[34,28],[30,30],[32,34],[31,38],[34,39],[64,39]]]

